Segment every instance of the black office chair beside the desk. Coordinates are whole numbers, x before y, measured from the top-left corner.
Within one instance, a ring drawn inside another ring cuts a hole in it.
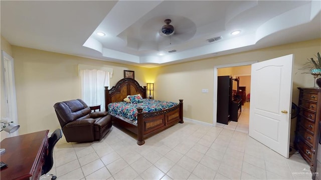
[[[53,174],[47,174],[47,173],[51,170],[54,164],[54,158],[53,158],[54,147],[61,137],[62,137],[62,130],[56,129],[48,138],[48,154],[45,157],[45,164],[42,166],[41,175],[42,176],[45,174],[50,175],[51,180],[55,180],[57,176]]]

